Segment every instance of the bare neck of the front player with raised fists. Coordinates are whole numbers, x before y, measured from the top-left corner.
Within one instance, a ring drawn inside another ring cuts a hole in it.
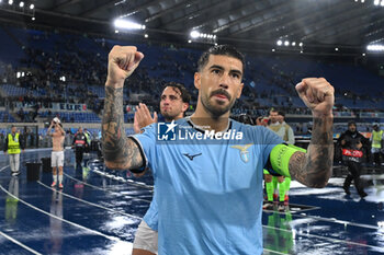
[[[222,116],[212,116],[200,102],[196,106],[196,112],[191,116],[191,120],[203,127],[206,130],[224,131],[228,127],[229,123],[229,112],[223,114]]]

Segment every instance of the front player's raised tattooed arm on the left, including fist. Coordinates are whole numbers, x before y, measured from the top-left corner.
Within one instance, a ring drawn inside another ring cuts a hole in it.
[[[138,146],[125,136],[123,114],[124,81],[137,68],[144,55],[136,47],[114,46],[109,55],[105,101],[102,120],[102,146],[110,169],[143,166]]]

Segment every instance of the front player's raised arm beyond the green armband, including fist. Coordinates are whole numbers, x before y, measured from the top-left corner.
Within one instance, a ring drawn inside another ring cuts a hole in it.
[[[289,164],[293,178],[309,187],[324,187],[332,174],[334,88],[324,78],[304,79],[298,95],[312,109],[314,126],[307,153],[295,152]]]

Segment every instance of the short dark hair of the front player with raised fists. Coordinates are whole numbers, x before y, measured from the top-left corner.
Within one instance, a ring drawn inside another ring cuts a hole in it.
[[[237,58],[242,63],[242,74],[244,74],[244,70],[246,70],[246,61],[245,61],[244,55],[240,51],[238,51],[234,46],[227,45],[227,44],[215,45],[208,48],[208,50],[204,51],[197,61],[197,71],[203,70],[205,65],[208,62],[211,55],[224,55],[224,56]]]

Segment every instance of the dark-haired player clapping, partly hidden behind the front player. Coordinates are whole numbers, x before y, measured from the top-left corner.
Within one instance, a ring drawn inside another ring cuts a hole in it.
[[[160,113],[165,120],[170,123],[182,118],[189,107],[190,100],[191,95],[182,84],[174,82],[167,83],[160,96]],[[144,127],[153,123],[157,123],[156,112],[154,113],[154,117],[151,117],[145,104],[136,106],[134,120],[135,134],[140,134]],[[158,253],[158,208],[156,198],[157,193],[154,194],[149,209],[136,230],[132,255],[153,255]]]

